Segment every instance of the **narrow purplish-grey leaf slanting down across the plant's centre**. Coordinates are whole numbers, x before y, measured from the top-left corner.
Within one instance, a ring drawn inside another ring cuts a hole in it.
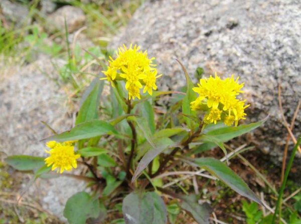
[[[133,182],[137,178],[137,176],[143,171],[143,169],[145,169],[145,167],[150,163],[150,161],[152,161],[157,155],[159,155],[173,143],[174,142],[171,139],[164,139],[164,141],[162,142],[157,142],[156,148],[148,150],[140,160],[131,181]]]

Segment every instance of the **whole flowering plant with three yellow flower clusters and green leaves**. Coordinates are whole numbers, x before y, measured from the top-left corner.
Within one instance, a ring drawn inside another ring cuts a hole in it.
[[[223,143],[264,122],[238,125],[249,106],[239,98],[243,84],[234,76],[223,80],[215,75],[200,79],[194,87],[179,62],[186,93],[158,91],[156,82],[162,75],[158,75],[154,60],[137,46],[119,48],[116,58],[109,58],[105,77],[94,80],[83,95],[75,126],[45,139],[48,157],[8,157],[10,165],[33,170],[35,178],[54,170],[63,175],[73,168],[88,168],[83,176],[69,174],[88,181],[93,191],[68,199],[64,215],[69,223],[83,224],[87,219],[98,223],[106,218],[108,209],[117,210],[117,217],[119,210],[123,214],[110,223],[164,224],[168,219],[174,223],[180,208],[198,223],[209,223],[212,211],[208,203],[199,203],[197,194],[181,193],[180,185],[169,187],[177,181],[166,177],[177,175],[182,164],[200,167],[199,174],[211,174],[202,178],[218,178],[261,203],[224,163],[229,156]],[[101,95],[107,84],[101,80],[109,81],[109,95]],[[163,95],[172,95],[173,105],[156,113],[154,102]],[[203,151],[214,147],[223,150],[223,159],[202,157]],[[176,171],[169,172],[172,169]]]

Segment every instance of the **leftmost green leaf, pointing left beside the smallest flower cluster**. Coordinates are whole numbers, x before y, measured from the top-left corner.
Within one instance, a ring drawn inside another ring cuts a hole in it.
[[[45,165],[45,158],[30,155],[12,155],[6,158],[6,162],[17,170],[26,171],[39,169]]]

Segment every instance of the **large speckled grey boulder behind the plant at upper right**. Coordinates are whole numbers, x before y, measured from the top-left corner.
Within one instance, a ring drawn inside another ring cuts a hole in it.
[[[133,43],[147,49],[164,74],[159,84],[164,90],[185,84],[173,57],[191,75],[197,67],[204,68],[206,75],[239,75],[251,104],[247,122],[270,114],[249,139],[280,164],[287,132],[281,123],[277,86],[281,83],[284,113],[290,122],[301,98],[300,10],[299,1],[288,0],[152,1],[136,11],[110,47]],[[293,132],[296,136],[301,132],[300,112]],[[297,154],[296,164],[301,166]]]

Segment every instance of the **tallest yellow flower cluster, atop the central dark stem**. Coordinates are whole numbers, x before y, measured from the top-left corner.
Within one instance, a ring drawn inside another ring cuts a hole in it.
[[[156,65],[153,64],[155,58],[148,59],[147,52],[142,52],[136,45],[130,45],[128,49],[123,45],[116,54],[117,58],[113,60],[110,57],[108,69],[103,71],[106,76],[104,79],[109,80],[112,86],[115,80],[125,81],[129,99],[140,99],[143,85],[143,93],[147,91],[152,95],[153,89],[157,90],[156,79],[162,76],[157,76]]]

